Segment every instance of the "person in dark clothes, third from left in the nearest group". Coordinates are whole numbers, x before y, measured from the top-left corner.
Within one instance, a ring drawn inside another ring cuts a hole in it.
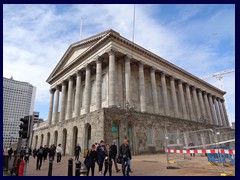
[[[106,145],[106,150],[104,152],[104,165],[105,165],[105,170],[103,175],[106,176],[107,172],[109,171],[109,176],[112,176],[112,159],[113,159],[113,152],[110,148],[110,145]]]

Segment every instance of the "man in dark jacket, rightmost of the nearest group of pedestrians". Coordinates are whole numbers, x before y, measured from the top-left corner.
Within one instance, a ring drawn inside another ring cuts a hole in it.
[[[123,140],[123,144],[120,146],[119,155],[122,158],[122,173],[123,176],[129,176],[130,160],[132,159],[130,148],[127,139]],[[125,172],[125,163],[127,163],[127,172]]]

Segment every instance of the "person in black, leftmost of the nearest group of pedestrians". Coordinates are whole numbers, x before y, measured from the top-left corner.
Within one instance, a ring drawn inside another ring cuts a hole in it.
[[[92,145],[92,149],[88,151],[87,156],[84,160],[84,163],[87,167],[87,176],[89,175],[89,171],[91,169],[92,176],[94,176],[94,169],[95,169],[95,163],[98,160],[98,153],[96,151],[95,144]]]

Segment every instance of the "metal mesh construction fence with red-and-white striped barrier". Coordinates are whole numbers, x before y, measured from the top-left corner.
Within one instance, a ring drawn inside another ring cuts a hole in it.
[[[235,172],[235,131],[229,128],[165,133],[167,169]]]

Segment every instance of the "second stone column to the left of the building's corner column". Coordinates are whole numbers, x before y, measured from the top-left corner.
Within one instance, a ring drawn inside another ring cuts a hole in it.
[[[90,65],[85,66],[85,90],[84,90],[84,112],[85,114],[90,112],[90,101],[91,101],[91,69]]]

